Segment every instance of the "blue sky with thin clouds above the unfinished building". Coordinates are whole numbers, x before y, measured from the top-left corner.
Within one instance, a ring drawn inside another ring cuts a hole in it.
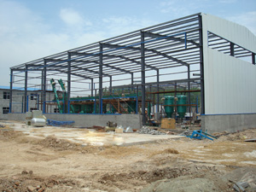
[[[200,12],[256,34],[256,0],[0,0],[0,85],[9,67]]]

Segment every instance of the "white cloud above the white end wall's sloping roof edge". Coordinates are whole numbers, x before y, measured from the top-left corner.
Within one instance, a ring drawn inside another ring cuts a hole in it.
[[[246,26],[251,32],[253,32],[256,35],[256,11],[230,16],[226,19],[236,22],[241,26]]]

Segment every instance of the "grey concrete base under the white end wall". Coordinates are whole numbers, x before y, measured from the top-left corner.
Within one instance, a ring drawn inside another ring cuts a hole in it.
[[[256,127],[256,113],[252,114],[223,114],[223,115],[202,115],[201,127],[204,131],[239,131]]]

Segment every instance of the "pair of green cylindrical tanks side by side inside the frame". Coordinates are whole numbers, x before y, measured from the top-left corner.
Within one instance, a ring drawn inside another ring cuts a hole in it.
[[[176,98],[178,117],[183,118],[187,111],[187,96],[177,96]],[[167,118],[172,118],[174,106],[174,96],[165,96],[165,111]]]

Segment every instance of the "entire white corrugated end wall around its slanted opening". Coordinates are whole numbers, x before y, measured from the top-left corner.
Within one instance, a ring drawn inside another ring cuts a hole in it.
[[[256,66],[207,47],[207,32],[256,52],[256,37],[246,27],[202,15],[205,113],[256,113]]]

